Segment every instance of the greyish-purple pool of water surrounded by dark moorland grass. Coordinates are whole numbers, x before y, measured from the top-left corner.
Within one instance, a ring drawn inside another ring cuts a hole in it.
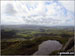
[[[38,51],[34,55],[48,55],[55,50],[62,48],[62,44],[56,40],[47,40],[39,45]]]

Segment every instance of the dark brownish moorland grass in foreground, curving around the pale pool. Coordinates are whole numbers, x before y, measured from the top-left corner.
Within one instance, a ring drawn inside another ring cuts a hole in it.
[[[35,51],[38,50],[38,45],[41,44],[43,41],[46,40],[57,40],[61,42],[61,44],[65,44],[67,39],[65,38],[58,38],[58,37],[39,37],[33,40],[25,40],[25,41],[14,41],[7,48],[2,50],[2,54],[33,54]],[[6,42],[10,43],[10,42]],[[4,44],[2,44],[4,45]],[[30,52],[31,51],[31,52]],[[24,53],[25,52],[25,53]]]

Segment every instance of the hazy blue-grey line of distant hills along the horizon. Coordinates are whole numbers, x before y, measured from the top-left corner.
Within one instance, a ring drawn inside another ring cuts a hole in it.
[[[1,25],[1,29],[74,29],[74,26]]]

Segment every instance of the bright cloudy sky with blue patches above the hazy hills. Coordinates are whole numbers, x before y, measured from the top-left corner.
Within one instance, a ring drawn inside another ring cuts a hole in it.
[[[1,1],[1,25],[74,25],[74,1]]]

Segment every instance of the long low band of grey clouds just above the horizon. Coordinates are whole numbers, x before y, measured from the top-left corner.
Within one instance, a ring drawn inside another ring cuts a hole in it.
[[[62,20],[55,20],[52,18],[37,18],[37,20],[34,18],[32,18],[32,19],[24,18],[23,20],[28,24],[29,23],[30,24],[51,24],[51,23],[56,24],[56,23],[62,21]]]

